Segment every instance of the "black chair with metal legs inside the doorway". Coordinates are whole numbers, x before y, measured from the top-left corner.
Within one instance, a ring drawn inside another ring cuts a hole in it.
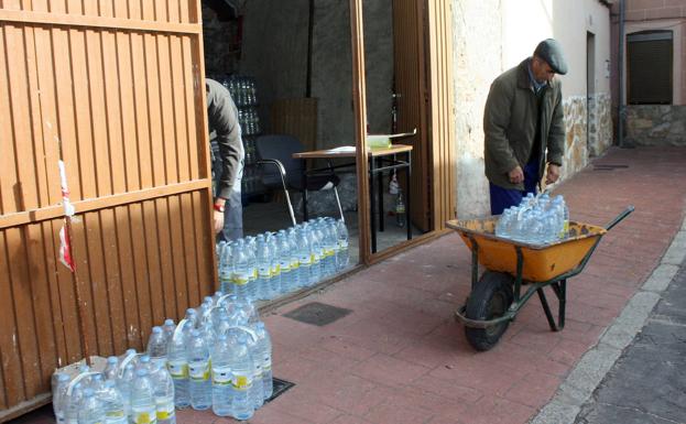
[[[255,139],[254,146],[258,163],[262,165],[262,184],[268,188],[283,188],[293,225],[296,224],[296,220],[288,188],[303,193],[303,220],[307,220],[307,192],[333,188],[340,218],[344,219],[340,198],[336,188],[340,178],[333,168],[307,172],[305,175],[305,161],[293,157],[293,153],[305,150],[298,139],[281,134],[260,135]]]

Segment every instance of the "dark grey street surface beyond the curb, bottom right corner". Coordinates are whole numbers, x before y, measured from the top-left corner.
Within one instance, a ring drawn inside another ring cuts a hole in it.
[[[686,262],[576,424],[686,423]]]

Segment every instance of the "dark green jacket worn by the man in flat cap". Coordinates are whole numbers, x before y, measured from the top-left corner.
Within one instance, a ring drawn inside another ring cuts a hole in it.
[[[503,188],[524,189],[524,184],[512,184],[508,172],[530,160],[537,127],[537,99],[529,78],[529,61],[501,74],[488,94],[483,112],[486,135],[483,154],[486,176]],[[546,163],[563,164],[565,149],[565,123],[562,105],[562,84],[553,79],[542,88],[541,100],[541,154],[538,180],[543,177]],[[546,157],[547,153],[547,157]],[[533,157],[532,157],[533,159]]]

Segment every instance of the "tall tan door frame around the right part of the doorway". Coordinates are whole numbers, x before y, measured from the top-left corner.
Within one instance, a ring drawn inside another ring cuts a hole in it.
[[[358,221],[360,228],[360,262],[372,264],[410,247],[426,242],[446,232],[445,222],[455,218],[457,210],[457,168],[455,154],[455,121],[453,90],[453,14],[449,0],[416,0],[425,8],[424,40],[428,46],[425,66],[427,72],[427,119],[423,129],[427,134],[428,176],[433,191],[429,213],[433,229],[427,233],[404,241],[382,252],[371,253],[369,165],[367,152],[367,89],[364,79],[364,31],[362,0],[349,0],[350,37],[352,46],[352,105],[355,115],[355,141],[357,146]],[[420,36],[420,35],[418,35]],[[367,229],[367,230],[364,230]]]

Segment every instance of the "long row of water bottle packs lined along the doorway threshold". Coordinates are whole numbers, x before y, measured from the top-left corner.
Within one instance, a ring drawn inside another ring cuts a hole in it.
[[[346,224],[320,217],[277,232],[217,244],[219,286],[241,300],[272,300],[349,264]]]

